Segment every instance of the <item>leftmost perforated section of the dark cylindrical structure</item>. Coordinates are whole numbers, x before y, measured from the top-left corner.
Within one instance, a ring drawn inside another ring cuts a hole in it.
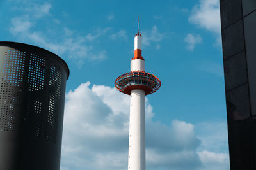
[[[20,117],[20,85],[24,76],[26,52],[6,48],[1,63],[0,130],[16,131]]]

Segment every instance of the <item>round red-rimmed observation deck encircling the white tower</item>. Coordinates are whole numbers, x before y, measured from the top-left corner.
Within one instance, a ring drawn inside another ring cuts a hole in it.
[[[131,94],[133,89],[142,89],[145,95],[156,92],[161,86],[161,81],[153,74],[145,71],[131,71],[122,74],[115,80],[115,87],[124,94]]]

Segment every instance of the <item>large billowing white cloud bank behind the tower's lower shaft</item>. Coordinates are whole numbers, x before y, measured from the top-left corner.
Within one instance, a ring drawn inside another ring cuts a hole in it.
[[[146,98],[147,169],[200,169],[213,157],[202,150],[195,127],[180,120],[170,125],[153,122],[153,108]],[[83,83],[66,95],[63,126],[62,169],[127,169],[129,96],[105,85]],[[204,155],[207,154],[204,158]],[[212,161],[211,165],[214,164]],[[62,170],[61,169],[61,170]]]

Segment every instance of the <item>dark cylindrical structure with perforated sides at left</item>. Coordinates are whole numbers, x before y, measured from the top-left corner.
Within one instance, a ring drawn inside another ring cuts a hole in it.
[[[59,170],[64,60],[32,45],[0,42],[0,169]]]

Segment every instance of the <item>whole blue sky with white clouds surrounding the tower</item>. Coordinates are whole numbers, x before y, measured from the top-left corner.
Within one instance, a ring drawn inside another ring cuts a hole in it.
[[[61,170],[127,169],[129,71],[137,15],[147,96],[147,169],[229,169],[218,0],[0,1],[0,41],[40,46],[70,67]]]

